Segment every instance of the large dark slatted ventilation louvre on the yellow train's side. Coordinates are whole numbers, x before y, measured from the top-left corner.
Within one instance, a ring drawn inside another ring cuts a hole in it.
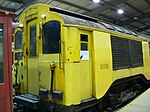
[[[142,43],[111,36],[113,69],[143,66]]]

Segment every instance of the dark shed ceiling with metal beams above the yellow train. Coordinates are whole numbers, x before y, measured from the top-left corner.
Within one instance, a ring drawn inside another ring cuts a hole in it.
[[[18,15],[35,3],[48,4],[150,35],[149,0],[100,0],[99,3],[92,0],[1,0],[0,9]],[[118,9],[123,9],[124,13],[118,14]]]

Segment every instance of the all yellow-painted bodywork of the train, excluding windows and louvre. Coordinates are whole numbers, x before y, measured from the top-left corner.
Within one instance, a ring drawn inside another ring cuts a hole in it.
[[[142,42],[143,67],[113,70],[110,35],[141,41],[140,39],[86,26],[66,25],[62,17],[49,8],[48,5],[36,4],[25,9],[19,18],[24,32],[23,67],[19,68],[19,75],[24,75],[24,79],[20,80],[21,93],[29,92],[38,95],[40,88],[50,91],[52,64],[56,66],[53,90],[63,92],[63,100],[55,103],[66,106],[80,104],[83,100],[92,97],[102,98],[117,79],[137,74],[144,74],[147,79],[150,79],[148,42]],[[42,54],[42,25],[51,20],[61,22],[61,54]],[[26,50],[30,49],[29,27],[34,25],[37,26],[37,49],[36,56],[30,57],[26,54]],[[88,60],[80,59],[80,34],[88,35]],[[16,60],[14,62],[16,63]]]

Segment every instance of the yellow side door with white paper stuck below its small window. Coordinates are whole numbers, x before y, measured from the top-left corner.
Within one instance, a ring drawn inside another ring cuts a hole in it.
[[[92,97],[91,33],[80,30],[81,100]]]

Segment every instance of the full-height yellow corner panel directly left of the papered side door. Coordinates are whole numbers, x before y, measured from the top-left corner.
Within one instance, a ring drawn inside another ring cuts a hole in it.
[[[81,101],[80,87],[80,38],[75,27],[64,27],[65,38],[65,104],[79,104]],[[75,62],[75,63],[73,63]]]

